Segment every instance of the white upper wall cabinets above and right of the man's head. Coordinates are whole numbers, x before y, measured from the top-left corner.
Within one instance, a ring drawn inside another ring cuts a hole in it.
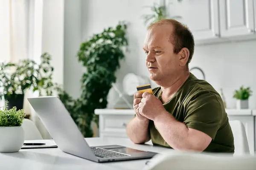
[[[163,1],[169,17],[188,26],[197,45],[256,39],[256,0]]]

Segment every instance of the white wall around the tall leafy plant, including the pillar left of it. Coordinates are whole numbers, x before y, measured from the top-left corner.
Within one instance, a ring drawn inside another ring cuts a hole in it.
[[[99,33],[104,28],[116,26],[119,21],[128,23],[127,36],[130,52],[125,60],[121,61],[121,68],[116,72],[118,77],[116,84],[122,88],[122,77],[128,72],[148,76],[146,68],[141,66],[141,63],[145,63],[142,45],[146,31],[142,15],[150,12],[145,6],[152,6],[154,2],[159,0],[83,0],[80,7],[79,0],[72,3],[66,0],[65,6],[69,6],[69,9],[65,7],[64,89],[73,97],[79,96],[81,71],[85,70],[77,62],[76,57],[73,58],[74,60],[71,59],[79,49],[79,42],[87,40],[92,34]],[[80,27],[79,17],[81,17],[82,27]],[[79,39],[80,28],[82,39]],[[117,94],[112,90],[109,94],[110,103],[116,97]],[[131,97],[129,99],[132,100]]]

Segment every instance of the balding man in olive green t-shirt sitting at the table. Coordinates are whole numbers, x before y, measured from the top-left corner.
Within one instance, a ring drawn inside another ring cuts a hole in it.
[[[134,95],[134,119],[127,125],[132,142],[177,150],[234,153],[234,139],[221,96],[189,72],[194,38],[176,20],[148,28],[143,49],[150,79],[159,85]]]

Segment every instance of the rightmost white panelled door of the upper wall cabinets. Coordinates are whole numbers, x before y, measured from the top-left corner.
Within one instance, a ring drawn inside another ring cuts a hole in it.
[[[254,34],[253,0],[219,0],[221,37]]]

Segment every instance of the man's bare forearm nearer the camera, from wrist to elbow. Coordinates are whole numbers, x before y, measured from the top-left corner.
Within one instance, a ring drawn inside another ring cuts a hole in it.
[[[189,129],[171,114],[164,113],[154,119],[154,125],[163,139],[174,149],[190,150]]]

